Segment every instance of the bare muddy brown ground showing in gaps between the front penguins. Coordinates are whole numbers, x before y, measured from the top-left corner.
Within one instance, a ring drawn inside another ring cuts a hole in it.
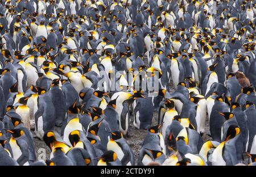
[[[172,86],[172,83],[170,84],[171,92],[174,91],[174,87]],[[130,122],[130,137],[126,138],[127,143],[130,145],[130,147],[134,151],[135,155],[135,162],[137,163],[138,161],[138,155],[139,155],[139,150],[141,150],[141,145],[144,140],[144,137],[146,137],[146,132],[147,130],[142,130],[142,129],[137,129],[133,126],[133,116],[131,116],[131,122]],[[157,119],[158,119],[158,112],[154,112],[154,116],[152,119],[152,125],[157,124]],[[209,134],[209,120],[207,116],[207,120],[205,122],[205,133],[203,134],[203,140],[204,142],[210,140],[210,137],[207,135]],[[57,132],[60,132],[60,128],[55,127],[55,130]],[[35,147],[36,147],[36,153],[38,154],[39,159],[43,159],[44,161],[49,159],[49,155],[51,153],[51,150],[49,147],[44,143],[44,141],[38,140],[38,138],[34,138],[35,142]]]

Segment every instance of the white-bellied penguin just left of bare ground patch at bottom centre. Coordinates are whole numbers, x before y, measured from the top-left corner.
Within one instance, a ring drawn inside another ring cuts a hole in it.
[[[130,146],[127,144],[121,132],[112,132],[111,139],[108,142],[107,149],[113,150],[117,154],[117,158],[122,165],[134,165],[134,154]]]

